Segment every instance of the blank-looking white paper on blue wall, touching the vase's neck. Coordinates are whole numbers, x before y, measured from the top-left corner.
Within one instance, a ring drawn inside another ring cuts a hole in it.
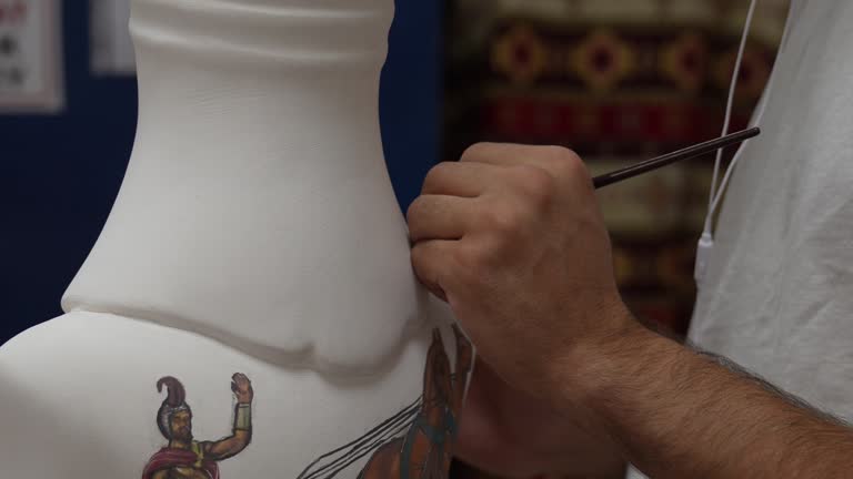
[[[136,72],[130,41],[130,0],[90,0],[92,71],[127,75]]]

